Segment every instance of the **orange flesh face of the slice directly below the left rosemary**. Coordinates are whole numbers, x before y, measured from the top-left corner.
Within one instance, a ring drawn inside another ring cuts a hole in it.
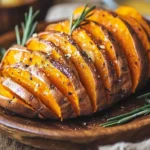
[[[79,114],[79,100],[72,83],[63,73],[55,68],[49,60],[46,60],[44,56],[40,55],[38,52],[30,53],[29,51],[18,51],[12,48],[6,53],[2,61],[2,66],[15,64],[20,61],[24,64],[36,65],[41,68],[51,82],[68,98],[68,100],[70,100],[76,114]]]

